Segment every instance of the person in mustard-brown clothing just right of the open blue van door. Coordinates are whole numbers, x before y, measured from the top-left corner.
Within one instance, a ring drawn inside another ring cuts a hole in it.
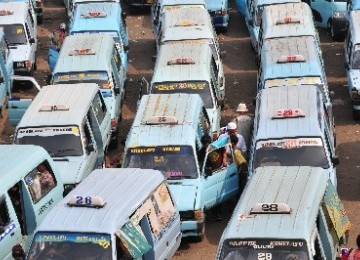
[[[238,143],[238,138],[236,135],[230,135],[230,142],[233,148],[234,162],[236,164],[238,174],[239,174],[239,195],[245,188],[247,177],[248,177],[248,165],[245,157],[242,155],[239,148],[236,144]],[[240,197],[240,196],[239,196]]]

